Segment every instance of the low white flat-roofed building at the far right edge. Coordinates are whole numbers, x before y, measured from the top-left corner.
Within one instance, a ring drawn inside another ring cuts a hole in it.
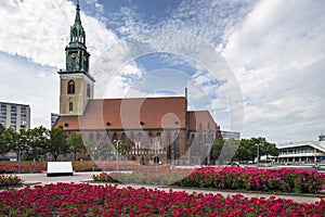
[[[303,141],[277,145],[278,162],[325,162],[325,137],[318,141]]]

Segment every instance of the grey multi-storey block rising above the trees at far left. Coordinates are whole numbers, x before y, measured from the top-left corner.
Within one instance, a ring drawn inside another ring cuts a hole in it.
[[[11,127],[15,131],[30,128],[29,105],[0,102],[0,123],[4,128]]]

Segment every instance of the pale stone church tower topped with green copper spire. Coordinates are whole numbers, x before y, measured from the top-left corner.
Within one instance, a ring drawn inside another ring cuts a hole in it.
[[[60,69],[60,115],[82,115],[89,99],[93,99],[94,78],[89,74],[86,33],[77,3],[76,18],[70,27],[70,41],[65,48],[66,68]]]

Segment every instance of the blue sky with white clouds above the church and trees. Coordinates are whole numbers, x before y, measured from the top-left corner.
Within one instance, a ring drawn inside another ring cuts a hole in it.
[[[322,0],[79,0],[95,98],[184,95],[222,130],[277,144],[325,133]],[[0,1],[0,101],[58,113],[76,1]]]

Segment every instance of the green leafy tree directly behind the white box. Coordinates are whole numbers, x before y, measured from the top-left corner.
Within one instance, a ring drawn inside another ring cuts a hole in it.
[[[66,155],[69,153],[69,144],[67,142],[67,133],[64,131],[63,127],[53,128],[49,131],[50,141],[48,151],[57,161],[60,154]]]

